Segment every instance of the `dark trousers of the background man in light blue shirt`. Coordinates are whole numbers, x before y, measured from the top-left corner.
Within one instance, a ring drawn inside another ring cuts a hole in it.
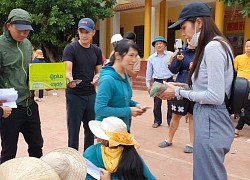
[[[166,82],[173,82],[173,77],[168,79],[154,79],[154,81],[163,83],[163,81]],[[162,100],[158,97],[154,97],[154,123],[162,124],[162,112],[161,112],[161,105]],[[168,105],[168,111],[167,111],[167,123],[170,125],[171,119],[172,119],[172,110],[171,110],[171,100],[167,101]]]

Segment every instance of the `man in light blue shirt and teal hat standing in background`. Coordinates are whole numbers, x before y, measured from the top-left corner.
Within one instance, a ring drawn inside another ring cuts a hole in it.
[[[162,36],[157,36],[152,46],[155,47],[156,52],[148,58],[147,71],[146,71],[146,86],[148,92],[150,92],[150,81],[153,78],[154,81],[162,83],[163,81],[173,82],[173,74],[168,69],[168,61],[170,60],[173,52],[167,51],[167,41]],[[154,97],[154,123],[153,128],[157,128],[162,124],[162,112],[161,112],[162,100],[158,97]],[[168,101],[167,123],[170,125],[172,118],[172,110],[170,102]]]

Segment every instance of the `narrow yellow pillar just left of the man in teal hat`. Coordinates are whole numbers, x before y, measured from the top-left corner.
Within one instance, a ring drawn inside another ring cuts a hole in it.
[[[150,40],[151,40],[151,7],[152,0],[145,0],[145,14],[144,14],[144,59],[150,55]]]

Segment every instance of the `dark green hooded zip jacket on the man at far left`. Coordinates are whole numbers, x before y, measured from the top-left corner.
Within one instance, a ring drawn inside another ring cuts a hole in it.
[[[12,16],[19,17],[19,20],[30,20],[27,14],[19,13]],[[6,23],[9,21],[10,19]],[[6,28],[6,23],[3,35],[0,36],[0,88],[15,88],[18,91],[17,105],[27,107],[34,101],[28,87],[32,45],[28,39],[23,42],[15,41]]]

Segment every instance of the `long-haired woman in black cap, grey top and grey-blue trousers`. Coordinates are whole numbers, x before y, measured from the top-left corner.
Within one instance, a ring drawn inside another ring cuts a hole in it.
[[[190,19],[195,19],[194,23]],[[194,106],[194,180],[226,180],[225,155],[234,138],[234,125],[224,98],[230,96],[233,66],[232,48],[216,27],[210,7],[190,3],[179,14],[170,29],[181,29],[182,35],[196,48],[188,76],[191,90],[166,83],[168,89],[160,98],[187,98]],[[194,31],[194,33],[193,33]]]

